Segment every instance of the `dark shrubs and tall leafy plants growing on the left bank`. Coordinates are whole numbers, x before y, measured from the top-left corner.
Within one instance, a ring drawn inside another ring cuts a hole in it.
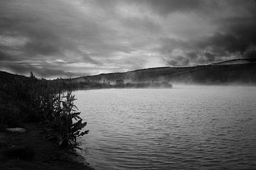
[[[36,79],[32,73],[28,78],[1,72],[0,78],[0,130],[40,123],[48,138],[65,148],[76,147],[76,138],[87,134],[68,84]]]

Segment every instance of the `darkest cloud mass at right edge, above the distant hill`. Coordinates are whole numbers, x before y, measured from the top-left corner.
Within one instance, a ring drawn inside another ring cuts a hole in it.
[[[211,45],[216,50],[228,52],[245,52],[249,47],[256,45],[256,16],[253,18],[230,18],[227,23],[223,23],[220,31],[223,33],[215,33],[202,40],[198,45],[201,47]]]

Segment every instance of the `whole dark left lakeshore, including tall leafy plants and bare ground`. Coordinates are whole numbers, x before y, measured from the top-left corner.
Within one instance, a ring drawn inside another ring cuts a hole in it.
[[[86,123],[61,82],[0,72],[0,169],[92,169],[70,152]],[[39,126],[40,125],[40,126]],[[7,128],[25,128],[9,132]],[[61,149],[60,149],[61,148]]]

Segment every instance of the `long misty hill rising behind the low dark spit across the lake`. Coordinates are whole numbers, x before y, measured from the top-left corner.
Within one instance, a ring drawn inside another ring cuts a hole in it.
[[[124,82],[169,81],[171,84],[254,84],[256,85],[256,63],[203,65],[197,67],[157,67],[138,69],[132,72],[98,74],[79,77],[75,82],[107,81],[114,84],[122,79]]]

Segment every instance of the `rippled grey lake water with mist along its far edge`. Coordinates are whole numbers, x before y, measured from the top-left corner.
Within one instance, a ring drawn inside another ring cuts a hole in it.
[[[75,92],[80,154],[101,169],[255,169],[256,87]]]

